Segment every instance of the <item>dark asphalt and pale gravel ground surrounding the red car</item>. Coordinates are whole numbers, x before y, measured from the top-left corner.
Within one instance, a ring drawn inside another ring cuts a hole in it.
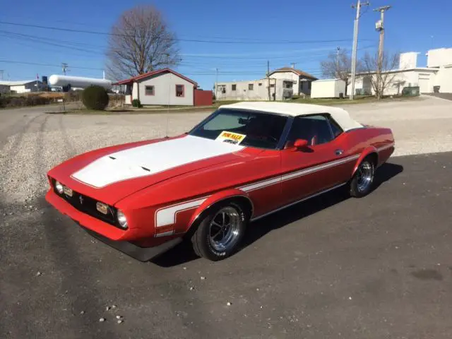
[[[452,101],[341,107],[393,129],[375,191],[259,220],[218,263],[185,245],[134,261],[44,201],[59,162],[182,133],[207,112],[1,110],[0,338],[452,338]]]

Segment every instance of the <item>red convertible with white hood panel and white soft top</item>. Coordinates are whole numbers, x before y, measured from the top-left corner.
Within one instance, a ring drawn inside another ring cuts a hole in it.
[[[343,185],[365,196],[393,150],[391,129],[344,109],[240,102],[181,136],[73,157],[48,172],[46,198],[141,261],[183,239],[217,261],[237,251],[251,221]]]

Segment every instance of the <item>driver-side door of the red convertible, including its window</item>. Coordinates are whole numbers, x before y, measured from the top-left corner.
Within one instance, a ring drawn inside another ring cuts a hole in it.
[[[331,128],[329,114],[295,117],[281,152],[282,196],[285,204],[301,200],[344,181],[345,169],[338,166],[343,157],[342,133]],[[339,128],[340,129],[340,128]],[[308,141],[304,148],[294,148],[297,139]]]

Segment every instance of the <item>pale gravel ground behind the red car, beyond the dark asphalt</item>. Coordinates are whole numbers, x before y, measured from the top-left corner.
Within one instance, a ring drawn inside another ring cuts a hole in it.
[[[364,124],[393,129],[396,156],[452,150],[452,102],[422,97],[341,107]],[[166,131],[169,136],[183,133],[208,114],[90,116],[44,114],[44,110],[0,112],[0,197],[4,203],[23,203],[42,196],[47,189],[47,170],[73,155],[162,137]]]

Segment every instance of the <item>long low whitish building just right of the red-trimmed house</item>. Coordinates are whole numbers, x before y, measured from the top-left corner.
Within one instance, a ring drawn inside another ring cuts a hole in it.
[[[268,81],[270,81],[270,100],[287,100],[293,96],[291,79],[263,78],[217,83],[215,97],[216,100],[269,100]]]

